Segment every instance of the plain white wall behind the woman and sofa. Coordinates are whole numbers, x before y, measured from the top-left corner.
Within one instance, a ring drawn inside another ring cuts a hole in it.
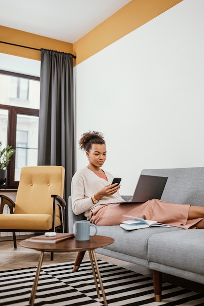
[[[183,0],[76,66],[76,170],[89,130],[103,132],[121,194],[143,168],[204,166],[203,12]]]

